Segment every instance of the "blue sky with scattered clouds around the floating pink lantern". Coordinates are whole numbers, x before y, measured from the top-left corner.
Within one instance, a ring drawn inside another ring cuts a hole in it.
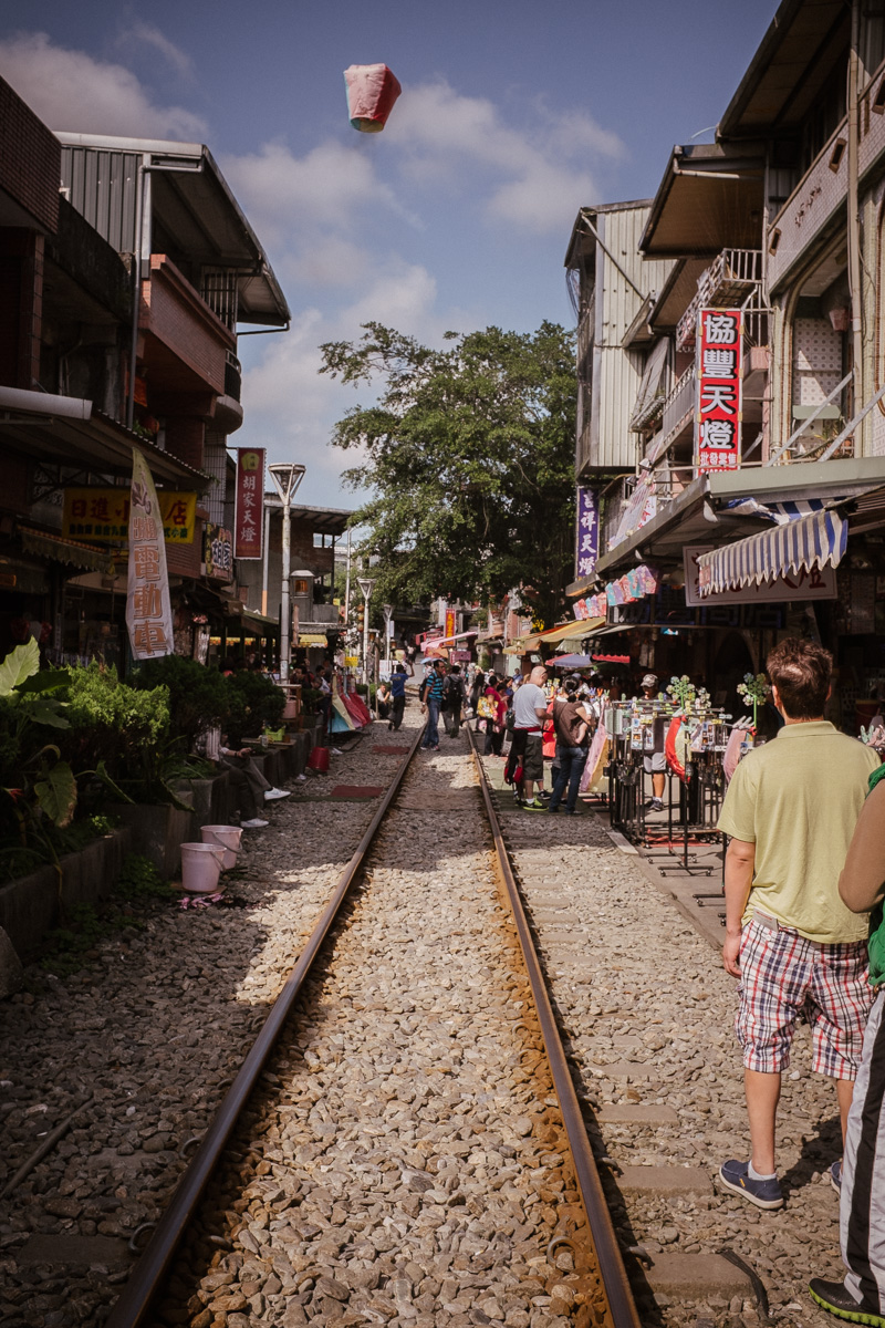
[[[19,11],[16,17],[13,9]],[[239,445],[301,461],[303,502],[350,507],[332,425],[365,388],[318,345],[369,319],[419,340],[572,323],[577,208],[645,198],[724,110],[775,0],[44,0],[0,12],[0,74],[52,129],[208,145],[292,308],[240,343]],[[34,17],[31,17],[31,13]],[[24,17],[28,15],[28,17]],[[382,134],[342,70],[386,62]]]

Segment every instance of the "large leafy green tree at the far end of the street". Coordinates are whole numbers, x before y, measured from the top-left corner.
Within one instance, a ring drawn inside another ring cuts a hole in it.
[[[321,373],[383,384],[333,434],[365,457],[345,482],[373,490],[354,517],[373,599],[488,604],[521,586],[553,623],[575,547],[575,339],[552,323],[446,337],[434,351],[368,323],[360,341],[322,347]]]

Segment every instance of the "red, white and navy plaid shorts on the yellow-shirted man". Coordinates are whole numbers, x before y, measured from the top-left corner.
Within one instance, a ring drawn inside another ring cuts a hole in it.
[[[812,1029],[812,1069],[853,1080],[873,993],[866,942],[820,946],[789,928],[752,918],[740,936],[740,1005],[735,1020],[743,1064],[775,1074],[789,1065],[803,1007]]]

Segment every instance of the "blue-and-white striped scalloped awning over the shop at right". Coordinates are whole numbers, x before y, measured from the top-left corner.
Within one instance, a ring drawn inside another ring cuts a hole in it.
[[[702,596],[759,584],[815,567],[839,567],[848,543],[848,522],[836,511],[815,511],[774,530],[701,554],[698,590]]]

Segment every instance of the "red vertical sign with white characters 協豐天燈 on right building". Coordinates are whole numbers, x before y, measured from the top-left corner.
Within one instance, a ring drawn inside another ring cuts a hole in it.
[[[740,463],[740,309],[698,313],[695,470],[736,470]]]

